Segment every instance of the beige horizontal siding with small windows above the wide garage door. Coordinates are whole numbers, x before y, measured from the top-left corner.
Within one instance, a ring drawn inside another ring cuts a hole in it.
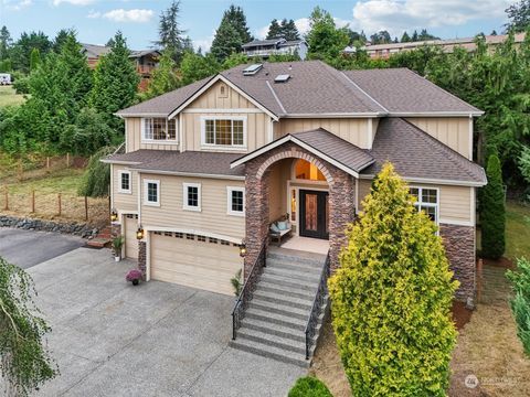
[[[157,207],[144,205],[144,196],[141,197],[141,224],[144,227],[193,229],[198,234],[244,238],[245,218],[226,214],[226,186],[244,186],[243,181],[142,174],[142,181],[144,179],[160,181],[161,200],[160,206]],[[182,208],[182,183],[201,183],[201,212]]]

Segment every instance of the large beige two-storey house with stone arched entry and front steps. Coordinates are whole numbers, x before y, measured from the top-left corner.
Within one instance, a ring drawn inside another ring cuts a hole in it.
[[[104,160],[115,233],[147,280],[232,294],[237,270],[252,275],[234,345],[303,364],[318,336],[322,268],[339,266],[344,229],[386,161],[439,226],[456,298],[473,302],[476,189],[486,184],[473,126],[481,114],[406,68],[236,66],[117,112],[125,152]],[[297,251],[263,250],[271,224],[285,217],[293,237],[284,248]],[[265,259],[257,281],[254,266]]]

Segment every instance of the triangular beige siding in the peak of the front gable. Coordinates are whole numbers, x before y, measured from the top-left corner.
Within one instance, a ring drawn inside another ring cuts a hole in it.
[[[221,95],[224,86],[225,95]],[[244,96],[230,88],[223,82],[218,82],[205,90],[199,98],[193,100],[188,109],[253,109],[256,108]]]

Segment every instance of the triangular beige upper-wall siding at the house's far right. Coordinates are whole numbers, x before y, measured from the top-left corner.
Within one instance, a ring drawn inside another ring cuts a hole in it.
[[[416,117],[407,118],[407,120],[465,158],[470,159],[469,143],[473,131],[469,130],[469,118]]]

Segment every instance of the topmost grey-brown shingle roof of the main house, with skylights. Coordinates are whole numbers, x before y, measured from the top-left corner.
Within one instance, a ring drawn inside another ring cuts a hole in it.
[[[221,75],[278,117],[479,111],[404,68],[342,73],[320,61],[278,62],[264,63],[255,75],[244,76],[245,67],[247,65],[235,66]],[[282,74],[290,78],[275,83],[275,77]],[[169,115],[213,77],[120,110],[118,115]]]

